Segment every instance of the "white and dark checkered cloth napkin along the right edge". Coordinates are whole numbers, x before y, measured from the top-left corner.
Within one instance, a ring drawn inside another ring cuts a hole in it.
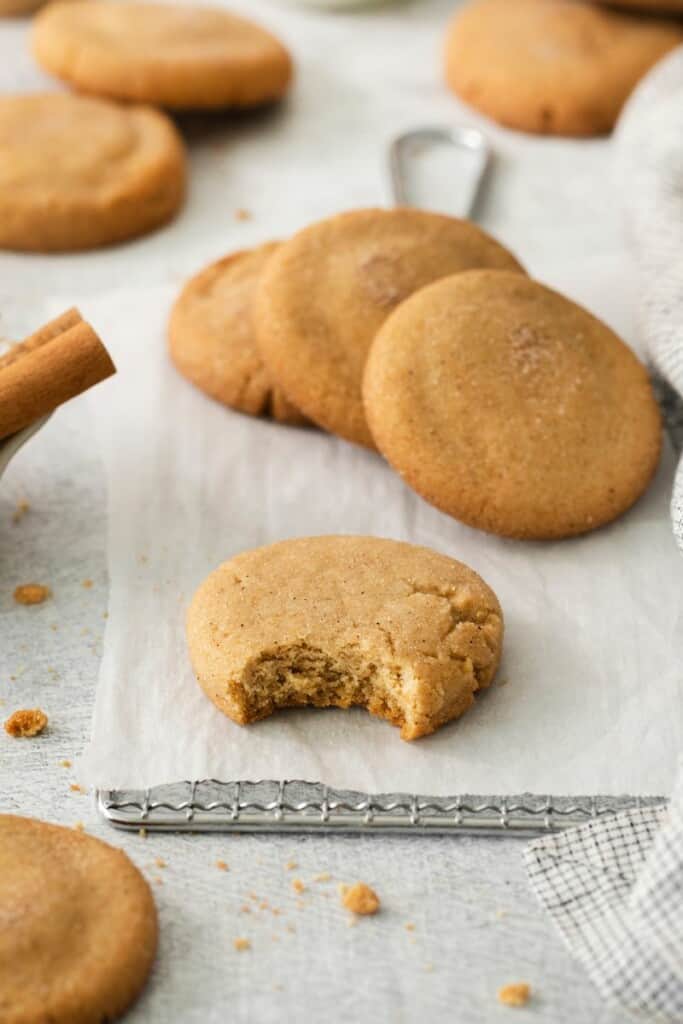
[[[641,271],[640,330],[683,442],[683,47],[639,85],[615,134],[620,195]],[[683,457],[672,496],[683,554]],[[680,714],[680,709],[672,709]],[[604,998],[626,1017],[683,1022],[683,758],[668,808],[537,840],[531,888]]]

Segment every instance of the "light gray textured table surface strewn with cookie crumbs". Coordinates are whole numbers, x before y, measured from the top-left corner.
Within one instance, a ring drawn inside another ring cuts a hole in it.
[[[335,33],[348,39],[368,30],[380,40],[385,26],[397,32],[402,17],[408,33],[401,38],[408,39],[411,26],[426,18],[436,46],[451,6],[445,0],[408,4],[393,12],[358,15],[361,20],[352,27],[341,15],[326,20],[278,6],[266,10],[265,4],[262,16],[280,27],[295,49],[304,30],[314,37],[316,52],[300,60],[297,95],[305,108],[301,116],[324,117],[327,110],[315,103],[318,95],[331,102],[331,72],[324,58],[325,45],[333,51]],[[0,25],[0,54],[5,55],[0,87],[40,81],[25,53],[25,34],[20,23]],[[394,55],[389,87],[397,88],[399,67],[407,79],[401,88],[433,93],[443,109],[442,89],[419,62],[401,65]],[[454,116],[460,113],[476,123],[457,105],[453,110]],[[296,96],[284,116],[297,117]],[[0,254],[0,334],[16,337],[35,327],[41,302],[50,294],[77,298],[120,282],[144,287],[180,280],[233,245],[268,237],[267,190],[251,197],[254,222],[230,223],[230,209],[250,205],[240,174],[234,180],[225,176],[236,133],[239,141],[248,129],[232,127],[229,136],[214,130],[209,140],[196,141],[194,187],[183,216],[166,231],[113,250],[106,262],[97,254]],[[598,265],[608,275],[623,243],[609,195],[607,143],[567,150],[550,140],[493,134],[500,159],[497,188],[481,210],[484,224],[519,248],[537,272],[575,260],[586,264],[587,279]],[[382,199],[376,182],[367,182],[361,198],[357,182],[322,174],[319,209],[311,210],[308,202],[309,216]],[[219,200],[228,211],[220,222],[215,216]],[[305,219],[294,203],[278,229]],[[630,301],[628,295],[622,298]],[[30,510],[14,523],[16,504],[25,500]],[[103,545],[97,455],[77,430],[74,407],[66,408],[16,458],[0,485],[0,717],[14,708],[40,706],[50,718],[47,732],[35,740],[11,740],[2,733],[0,811],[67,825],[82,821],[92,835],[121,845],[153,881],[161,947],[131,1022],[309,1018],[478,1024],[510,1019],[515,1011],[500,1007],[496,993],[517,980],[533,988],[529,1007],[516,1011],[521,1019],[603,1024],[624,1019],[602,1006],[537,905],[518,840],[143,839],[114,833],[98,820],[92,795],[70,790],[78,775],[60,761],[75,760],[88,735],[106,608]],[[12,590],[29,580],[48,583],[52,599],[41,607],[16,606]],[[84,587],[84,580],[92,587]],[[167,866],[157,867],[157,857]],[[216,868],[219,857],[229,871]],[[297,861],[296,869],[287,869],[290,860]],[[331,880],[313,881],[321,872]],[[301,896],[292,888],[294,878],[306,884]],[[349,928],[337,885],[356,880],[377,889],[383,909]],[[244,906],[250,912],[243,912]],[[415,930],[407,930],[407,923]],[[251,950],[236,951],[236,937],[249,938]]]

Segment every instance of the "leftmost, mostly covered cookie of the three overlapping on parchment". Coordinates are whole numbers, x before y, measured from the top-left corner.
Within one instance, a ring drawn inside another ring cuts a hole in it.
[[[252,324],[259,274],[279,243],[237,252],[191,278],[169,322],[169,349],[180,373],[212,398],[282,423],[304,417],[273,383],[256,347]]]

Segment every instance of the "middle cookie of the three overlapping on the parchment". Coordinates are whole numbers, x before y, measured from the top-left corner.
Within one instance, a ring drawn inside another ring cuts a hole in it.
[[[421,210],[352,210],[283,244],[255,303],[256,340],[288,398],[309,419],[368,447],[360,382],[375,333],[424,285],[474,266],[519,270],[466,220]]]

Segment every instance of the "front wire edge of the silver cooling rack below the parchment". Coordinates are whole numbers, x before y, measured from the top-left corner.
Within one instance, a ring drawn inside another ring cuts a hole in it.
[[[110,824],[157,831],[538,836],[664,803],[659,797],[368,796],[313,782],[214,779],[97,793]]]

